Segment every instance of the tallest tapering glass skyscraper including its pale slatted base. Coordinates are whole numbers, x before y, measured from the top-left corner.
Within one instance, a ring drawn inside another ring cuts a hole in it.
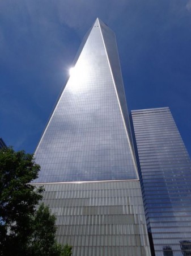
[[[73,255],[149,256],[113,31],[96,19],[35,152],[36,185]]]

